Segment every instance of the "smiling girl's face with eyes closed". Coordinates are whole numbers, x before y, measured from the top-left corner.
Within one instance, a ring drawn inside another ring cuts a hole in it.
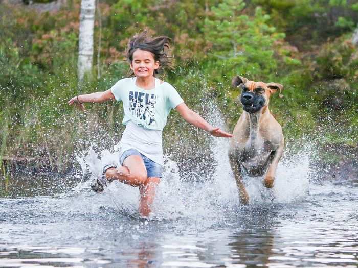
[[[153,54],[146,50],[136,50],[130,63],[136,77],[152,77],[154,70],[159,68],[159,61],[155,61]]]

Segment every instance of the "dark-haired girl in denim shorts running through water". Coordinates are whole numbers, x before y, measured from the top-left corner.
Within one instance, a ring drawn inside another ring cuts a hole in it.
[[[78,95],[69,101],[84,109],[83,103],[102,103],[116,99],[123,102],[126,126],[121,138],[120,166],[108,164],[103,178],[97,179],[93,189],[103,191],[107,181],[119,180],[138,186],[139,213],[148,217],[155,196],[155,188],[162,178],[162,131],[171,109],[178,111],[186,121],[216,137],[232,137],[212,127],[200,115],[189,109],[169,83],[155,78],[166,66],[170,39],[166,36],[149,38],[146,32],[133,37],[127,49],[127,60],[134,77],[119,80],[103,92]]]

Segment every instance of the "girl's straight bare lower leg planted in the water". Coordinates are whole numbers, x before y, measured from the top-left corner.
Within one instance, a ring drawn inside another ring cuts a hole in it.
[[[151,205],[155,197],[155,189],[158,186],[160,178],[148,177],[147,181],[139,186],[139,214],[148,217],[151,212]]]

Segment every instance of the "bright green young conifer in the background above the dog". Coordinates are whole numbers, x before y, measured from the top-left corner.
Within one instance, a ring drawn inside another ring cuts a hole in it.
[[[239,72],[252,79],[264,79],[277,68],[273,46],[284,34],[267,25],[270,16],[264,15],[261,8],[249,18],[241,14],[243,7],[242,1],[228,0],[212,8],[213,15],[206,18],[204,29],[211,44],[208,56],[222,66],[218,76],[232,77]]]

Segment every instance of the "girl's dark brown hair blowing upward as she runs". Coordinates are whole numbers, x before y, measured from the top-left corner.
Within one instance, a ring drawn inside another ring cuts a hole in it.
[[[147,35],[147,31],[139,33],[132,37],[127,46],[127,60],[129,63],[133,60],[133,53],[136,50],[145,50],[153,54],[154,60],[159,61],[159,68],[154,70],[153,76],[159,74],[164,67],[170,67],[172,62],[169,60],[168,51],[171,39],[167,36],[159,36],[151,38]],[[131,71],[130,76],[133,76]]]

